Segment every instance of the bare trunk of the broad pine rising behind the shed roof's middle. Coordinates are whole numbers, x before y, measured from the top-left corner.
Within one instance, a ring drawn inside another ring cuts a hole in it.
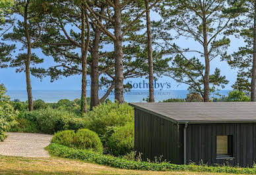
[[[208,41],[207,41],[207,22],[206,22],[206,14],[203,15],[203,37],[204,37],[204,53],[205,53],[205,76],[203,78],[204,82],[204,101],[208,102],[209,99],[209,91],[210,91],[210,60],[208,55]]]

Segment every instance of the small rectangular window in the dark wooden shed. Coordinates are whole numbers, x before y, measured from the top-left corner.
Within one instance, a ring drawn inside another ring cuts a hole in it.
[[[217,157],[233,156],[233,136],[216,137],[216,155]]]

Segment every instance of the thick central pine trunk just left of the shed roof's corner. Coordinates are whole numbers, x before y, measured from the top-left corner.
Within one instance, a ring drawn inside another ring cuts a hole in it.
[[[123,37],[121,26],[121,4],[120,0],[115,0],[115,100],[124,102],[123,98]]]

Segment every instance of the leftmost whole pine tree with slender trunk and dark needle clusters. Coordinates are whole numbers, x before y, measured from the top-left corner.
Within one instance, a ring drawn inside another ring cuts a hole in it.
[[[13,13],[20,14],[23,21],[18,20],[16,25],[13,27],[13,32],[9,32],[3,36],[3,39],[7,41],[15,41],[22,43],[21,51],[26,50],[26,53],[20,53],[16,58],[5,59],[5,61],[10,61],[11,67],[18,67],[16,72],[26,73],[26,89],[28,93],[28,109],[33,110],[33,97],[32,88],[30,82],[30,69],[36,70],[36,68],[31,68],[31,65],[42,63],[43,59],[39,59],[32,49],[38,47],[37,43],[40,40],[42,34],[42,26],[40,24],[40,16],[34,13],[34,8],[38,4],[32,1],[21,1],[16,3]],[[8,46],[13,47],[12,45]],[[3,61],[3,60],[2,60]]]

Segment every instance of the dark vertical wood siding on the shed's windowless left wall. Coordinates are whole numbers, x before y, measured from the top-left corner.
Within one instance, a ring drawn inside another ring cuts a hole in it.
[[[135,150],[143,153],[143,161],[162,160],[182,163],[180,132],[176,124],[135,109]]]

